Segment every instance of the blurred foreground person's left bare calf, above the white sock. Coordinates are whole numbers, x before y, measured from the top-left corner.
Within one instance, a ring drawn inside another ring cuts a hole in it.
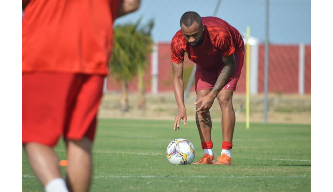
[[[53,148],[41,143],[30,142],[23,145],[32,171],[45,187],[55,178],[61,178],[59,159]]]

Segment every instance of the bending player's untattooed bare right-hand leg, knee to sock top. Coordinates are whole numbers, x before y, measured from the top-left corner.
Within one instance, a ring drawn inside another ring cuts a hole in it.
[[[221,90],[217,99],[222,111],[222,139],[231,142],[235,129],[235,111],[232,105],[233,90]]]

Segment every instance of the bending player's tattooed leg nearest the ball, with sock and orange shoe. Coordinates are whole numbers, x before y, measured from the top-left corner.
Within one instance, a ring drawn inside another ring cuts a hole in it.
[[[196,100],[208,95],[210,90],[199,90],[196,92]],[[198,106],[196,106],[196,109]],[[209,110],[195,112],[196,126],[199,131],[201,146],[204,150],[204,156],[199,161],[193,164],[212,164],[215,162],[214,154],[212,152],[212,141],[211,141],[211,118]]]

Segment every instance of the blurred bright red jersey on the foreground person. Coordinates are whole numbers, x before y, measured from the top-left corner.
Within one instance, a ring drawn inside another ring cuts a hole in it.
[[[22,19],[22,72],[108,73],[120,0],[31,0]]]

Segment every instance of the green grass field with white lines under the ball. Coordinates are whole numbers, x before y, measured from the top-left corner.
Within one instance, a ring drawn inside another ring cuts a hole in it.
[[[195,122],[172,127],[167,120],[100,119],[91,191],[311,191],[310,125],[251,123],[247,130],[236,123],[232,166],[171,165],[165,151],[176,138],[193,143],[194,161],[203,155]],[[221,122],[213,122],[215,156],[221,136]],[[66,159],[62,140],[55,150]],[[44,191],[33,175],[22,151],[22,191]]]

